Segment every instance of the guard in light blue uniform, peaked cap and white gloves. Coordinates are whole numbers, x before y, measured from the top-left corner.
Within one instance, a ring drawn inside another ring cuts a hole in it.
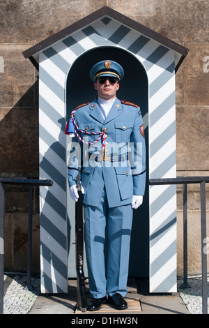
[[[86,258],[93,297],[88,311],[98,310],[104,302],[120,310],[127,308],[124,297],[132,210],[141,205],[145,191],[146,149],[140,108],[116,98],[123,75],[123,68],[115,61],[95,64],[90,77],[98,98],[79,105],[65,130],[73,137],[68,181],[75,201],[77,170],[82,167]]]

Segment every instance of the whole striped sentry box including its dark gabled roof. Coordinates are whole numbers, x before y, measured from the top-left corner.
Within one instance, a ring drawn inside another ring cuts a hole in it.
[[[64,131],[70,111],[82,98],[77,98],[71,77],[74,81],[79,77],[75,73],[79,65],[82,72],[89,71],[90,54],[97,59],[110,48],[124,68],[135,68],[127,73],[121,91],[123,98],[144,111],[148,179],[176,177],[175,73],[187,55],[185,47],[104,7],[26,50],[24,56],[39,69],[40,179],[54,181],[50,189],[40,188],[43,293],[68,292],[68,276],[74,270],[70,253],[74,212],[68,197]],[[77,82],[80,87],[81,81]],[[91,82],[86,83],[91,88]],[[89,95],[93,96],[92,89]],[[88,100],[92,99],[88,96]],[[137,232],[132,238],[130,274],[149,274],[150,292],[176,292],[176,187],[147,186],[146,200],[140,214],[144,217],[134,221]],[[137,211],[135,216],[139,216]],[[140,235],[142,224],[147,239]]]

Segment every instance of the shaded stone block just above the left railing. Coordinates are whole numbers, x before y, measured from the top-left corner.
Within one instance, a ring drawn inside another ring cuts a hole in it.
[[[0,110],[0,172],[38,172],[38,108]]]

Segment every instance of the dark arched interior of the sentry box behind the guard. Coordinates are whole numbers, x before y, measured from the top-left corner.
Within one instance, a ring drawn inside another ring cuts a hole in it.
[[[111,60],[118,61],[118,63],[120,63],[125,69],[125,77],[123,77],[123,81],[120,83],[121,87],[117,92],[117,96],[119,99],[131,99],[132,102],[137,103],[137,105],[141,108],[146,131],[146,163],[148,163],[148,77],[144,66],[136,57],[132,55],[131,52],[128,52],[121,47],[102,46],[88,50],[79,56],[70,67],[66,80],[66,117],[67,119],[70,118],[70,113],[75,109],[75,107],[77,107],[77,105],[91,101],[97,96],[95,89],[93,88],[93,83],[89,78],[89,71],[93,64],[100,61],[102,58],[109,58]],[[67,163],[69,154],[70,138],[68,138],[67,145]],[[75,239],[75,204],[69,197],[68,189],[67,197],[70,228],[70,238],[68,243],[70,247],[68,258],[68,275],[70,277],[75,277],[75,247],[70,245],[70,241]],[[148,210],[147,182],[144,203],[140,209],[134,211],[129,270],[129,275],[132,277],[148,276]],[[85,271],[86,275],[88,275],[86,267]]]

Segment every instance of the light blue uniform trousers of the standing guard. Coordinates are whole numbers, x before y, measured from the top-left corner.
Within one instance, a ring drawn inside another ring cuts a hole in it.
[[[88,281],[92,297],[116,292],[125,297],[132,228],[131,204],[109,208],[104,187],[98,207],[84,204],[84,234]],[[107,225],[107,272],[105,274],[104,241]]]

